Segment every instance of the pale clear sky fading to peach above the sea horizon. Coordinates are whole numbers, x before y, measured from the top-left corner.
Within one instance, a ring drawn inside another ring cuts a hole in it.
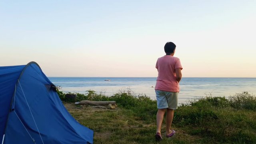
[[[184,77],[256,77],[256,0],[0,1],[0,66],[156,77],[168,41]]]

